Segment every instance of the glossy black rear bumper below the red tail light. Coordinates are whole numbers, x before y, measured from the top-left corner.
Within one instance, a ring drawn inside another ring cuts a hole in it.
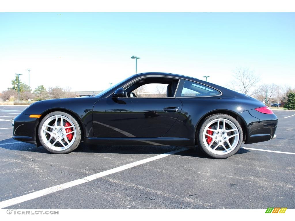
[[[240,113],[245,119],[248,131],[245,144],[269,141],[276,138],[278,118],[275,114],[264,114],[257,110],[248,110]]]

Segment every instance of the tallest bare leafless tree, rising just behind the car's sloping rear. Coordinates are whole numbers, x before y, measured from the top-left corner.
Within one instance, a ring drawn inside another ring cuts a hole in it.
[[[239,67],[233,72],[234,80],[230,84],[230,88],[237,92],[253,96],[259,92],[256,87],[259,82],[259,76],[253,73],[249,68]]]

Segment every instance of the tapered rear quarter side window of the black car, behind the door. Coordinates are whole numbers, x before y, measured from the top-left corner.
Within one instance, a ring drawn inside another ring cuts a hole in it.
[[[193,81],[185,80],[181,91],[181,97],[203,97],[215,96],[220,92],[209,86],[202,85]]]

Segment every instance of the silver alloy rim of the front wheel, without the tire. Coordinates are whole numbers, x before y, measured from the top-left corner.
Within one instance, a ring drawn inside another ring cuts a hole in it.
[[[65,126],[68,122],[71,126]],[[69,131],[69,129],[71,131]],[[72,134],[69,140],[67,135]],[[43,143],[51,150],[63,151],[70,148],[76,139],[76,128],[73,121],[62,115],[49,117],[42,125],[41,138]]]

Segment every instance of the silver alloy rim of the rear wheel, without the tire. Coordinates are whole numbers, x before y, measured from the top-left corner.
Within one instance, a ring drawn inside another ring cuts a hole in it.
[[[208,131],[211,131],[209,134]],[[240,134],[235,123],[218,118],[210,121],[203,131],[205,147],[212,153],[224,155],[232,152],[239,144]],[[210,142],[208,142],[208,138]]]

